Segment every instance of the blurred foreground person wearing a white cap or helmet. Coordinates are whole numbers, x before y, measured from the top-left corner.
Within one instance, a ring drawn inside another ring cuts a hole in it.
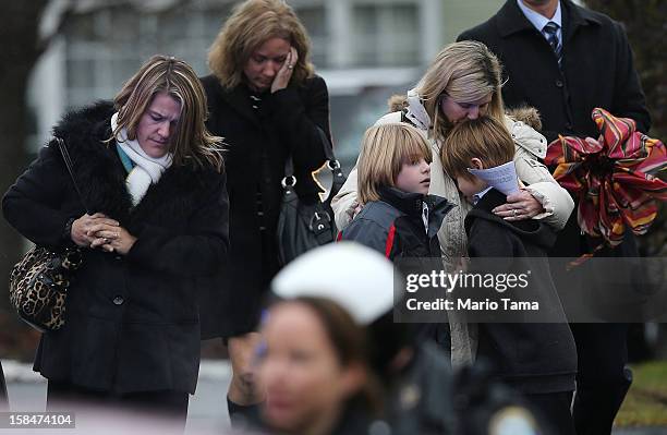
[[[344,273],[330,277],[332,264]],[[286,299],[329,299],[365,325],[372,368],[384,391],[381,420],[372,423],[369,433],[545,433],[523,399],[486,367],[480,364],[452,374],[447,353],[419,339],[417,324],[393,321],[395,289],[402,291],[404,283],[383,255],[339,242],[296,258],[276,276],[271,288]]]

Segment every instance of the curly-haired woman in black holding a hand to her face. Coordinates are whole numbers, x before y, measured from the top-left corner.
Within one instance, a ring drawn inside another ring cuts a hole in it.
[[[263,400],[252,370],[259,302],[280,268],[276,228],[281,180],[291,161],[301,201],[317,201],[312,173],[325,162],[318,130],[330,137],[329,96],[308,61],[303,24],[284,1],[247,0],[213,43],[202,82],[208,128],[228,144],[231,262],[226,312],[213,336],[228,343],[233,377],[230,414],[253,414]]]

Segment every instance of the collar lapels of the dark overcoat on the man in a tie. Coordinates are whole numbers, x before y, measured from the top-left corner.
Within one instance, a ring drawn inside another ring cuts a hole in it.
[[[560,0],[560,8],[562,13],[563,43],[572,37],[580,26],[601,24],[599,19],[591,11],[579,8],[570,0]],[[517,0],[507,0],[496,14],[496,17],[498,32],[504,38],[526,31],[537,33],[535,26],[519,9]]]

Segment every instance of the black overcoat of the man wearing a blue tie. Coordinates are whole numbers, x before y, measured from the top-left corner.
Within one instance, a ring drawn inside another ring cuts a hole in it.
[[[651,118],[622,26],[608,16],[561,0],[561,69],[544,36],[519,9],[517,0],[488,21],[463,32],[459,40],[486,44],[508,76],[502,97],[508,107],[539,110],[549,141],[565,135],[599,135],[591,112],[596,107],[632,118],[647,132]]]

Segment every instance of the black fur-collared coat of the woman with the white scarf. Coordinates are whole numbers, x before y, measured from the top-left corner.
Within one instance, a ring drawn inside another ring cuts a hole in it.
[[[128,255],[84,250],[62,329],[43,335],[35,370],[105,391],[193,392],[199,364],[195,277],[218,271],[228,254],[225,176],[171,166],[131,207],[111,134],[111,104],[68,114],[54,129],[68,146],[85,203],[137,238]],[[85,210],[56,142],[7,192],[5,219],[31,241],[72,243],[65,222]]]

